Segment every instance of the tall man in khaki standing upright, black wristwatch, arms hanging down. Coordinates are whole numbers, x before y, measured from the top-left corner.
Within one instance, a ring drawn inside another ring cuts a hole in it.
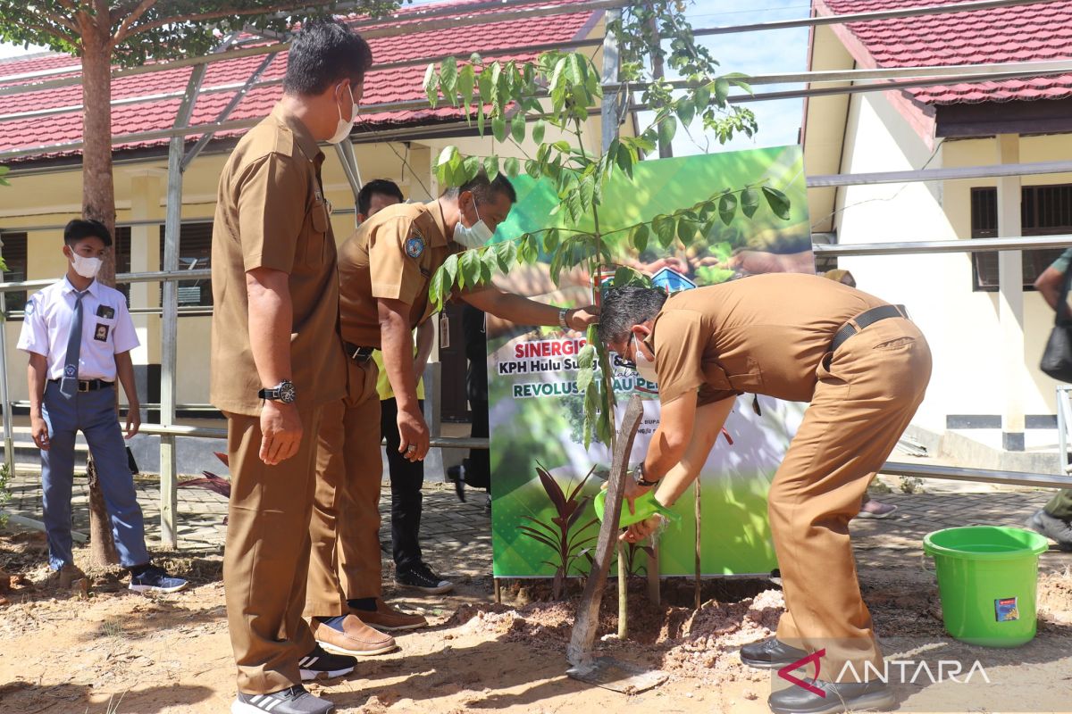
[[[238,665],[233,714],[327,714],[302,680],[353,670],[301,619],[316,431],[344,393],[336,244],[318,141],[345,138],[368,44],[345,25],[295,37],[283,98],[220,176],[212,233],[212,404],[227,416],[232,470],[224,586]]]

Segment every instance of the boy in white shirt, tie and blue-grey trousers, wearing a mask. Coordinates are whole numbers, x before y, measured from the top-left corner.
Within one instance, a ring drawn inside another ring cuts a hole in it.
[[[137,334],[126,300],[96,282],[111,236],[96,221],[75,219],[63,229],[66,276],[26,304],[18,349],[30,355],[30,429],[41,450],[48,565],[61,582],[86,576],[74,564],[71,486],[75,437],[89,443],[111,519],[120,562],[134,591],[175,592],[187,581],[149,562],[145,526],[116,420],[116,378],[126,393],[126,438],[137,434],[137,390],[130,351]]]

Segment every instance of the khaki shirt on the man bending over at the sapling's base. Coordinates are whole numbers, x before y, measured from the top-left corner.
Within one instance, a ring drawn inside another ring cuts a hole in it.
[[[655,317],[659,400],[750,392],[810,401],[837,331],[882,300],[817,275],[753,275],[671,295]]]

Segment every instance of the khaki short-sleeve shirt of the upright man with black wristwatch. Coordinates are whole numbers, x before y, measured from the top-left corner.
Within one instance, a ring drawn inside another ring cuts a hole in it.
[[[304,124],[277,105],[241,138],[220,174],[212,225],[210,394],[225,412],[260,412],[257,391],[264,385],[250,347],[245,292],[245,273],[256,268],[291,277],[291,379],[298,404],[326,404],[345,394],[323,162]]]

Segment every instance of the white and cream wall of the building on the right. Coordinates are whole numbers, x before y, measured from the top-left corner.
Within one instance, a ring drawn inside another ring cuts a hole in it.
[[[1072,158],[1063,136],[1021,139],[1021,162]],[[860,173],[921,168],[985,166],[998,163],[994,138],[946,141],[933,151],[883,94],[853,95],[843,170]],[[1024,185],[1070,183],[1072,176],[1028,177]],[[840,243],[968,240],[970,189],[995,186],[993,179],[940,183],[851,186],[838,191],[835,226]],[[812,216],[813,223],[822,216]],[[934,353],[934,376],[915,423],[941,431],[949,414],[1002,412],[1001,331],[996,292],[973,291],[967,253],[846,257],[858,286],[903,303],[926,334]],[[1024,295],[1026,383],[1021,385],[1027,414],[1054,413],[1056,382],[1038,370],[1053,313],[1034,291]]]

